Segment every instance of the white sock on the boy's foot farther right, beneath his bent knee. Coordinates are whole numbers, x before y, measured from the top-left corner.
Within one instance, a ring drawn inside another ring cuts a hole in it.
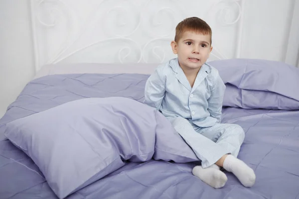
[[[223,162],[223,168],[226,171],[232,172],[245,187],[252,187],[254,185],[256,179],[255,173],[242,160],[228,155]]]

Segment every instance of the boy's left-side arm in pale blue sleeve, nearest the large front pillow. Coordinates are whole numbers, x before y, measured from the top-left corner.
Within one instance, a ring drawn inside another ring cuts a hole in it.
[[[145,88],[145,103],[149,106],[160,108],[165,94],[166,78],[161,75],[160,68],[149,76]]]

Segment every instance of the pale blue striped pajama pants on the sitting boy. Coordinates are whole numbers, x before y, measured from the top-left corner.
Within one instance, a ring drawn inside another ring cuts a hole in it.
[[[237,124],[198,127],[182,117],[167,119],[202,161],[202,168],[215,164],[225,154],[237,157],[245,138],[243,128]]]

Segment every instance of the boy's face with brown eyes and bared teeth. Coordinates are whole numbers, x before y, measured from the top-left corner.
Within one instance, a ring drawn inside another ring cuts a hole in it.
[[[177,41],[171,42],[172,51],[177,54],[178,62],[183,70],[200,69],[209,58],[211,35],[203,35],[186,31]]]

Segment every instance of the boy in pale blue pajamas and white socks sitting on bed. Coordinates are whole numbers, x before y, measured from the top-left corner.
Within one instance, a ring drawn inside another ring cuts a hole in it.
[[[158,109],[202,161],[192,174],[211,187],[222,188],[232,172],[245,187],[255,173],[237,159],[245,133],[237,124],[221,124],[225,85],[218,71],[207,65],[212,30],[197,17],[176,26],[171,48],[177,58],[156,68],[145,88],[145,103]]]

